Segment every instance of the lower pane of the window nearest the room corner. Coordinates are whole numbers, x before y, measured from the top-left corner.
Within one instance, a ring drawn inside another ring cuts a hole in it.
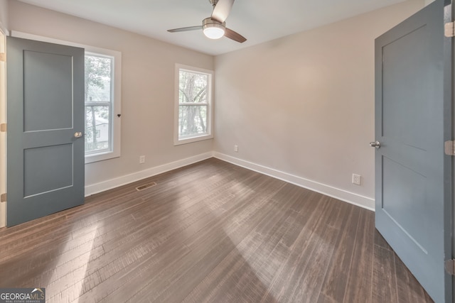
[[[178,137],[207,133],[207,106],[179,106]]]

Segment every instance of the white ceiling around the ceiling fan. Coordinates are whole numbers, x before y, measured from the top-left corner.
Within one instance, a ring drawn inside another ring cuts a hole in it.
[[[210,40],[202,31],[168,33],[199,26],[210,17],[209,0],[20,0],[46,9],[166,41],[210,55],[246,48],[275,38],[340,21],[405,0],[237,0],[226,26],[247,38]]]

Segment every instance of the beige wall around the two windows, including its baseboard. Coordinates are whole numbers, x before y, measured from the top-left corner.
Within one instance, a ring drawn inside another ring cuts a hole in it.
[[[211,155],[211,140],[173,146],[173,82],[176,63],[213,70],[213,56],[20,1],[9,29],[122,52],[122,156],[85,165],[86,194]]]

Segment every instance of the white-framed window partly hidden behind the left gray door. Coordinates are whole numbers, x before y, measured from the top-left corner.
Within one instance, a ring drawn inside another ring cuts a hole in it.
[[[116,57],[85,52],[85,162],[120,155]]]

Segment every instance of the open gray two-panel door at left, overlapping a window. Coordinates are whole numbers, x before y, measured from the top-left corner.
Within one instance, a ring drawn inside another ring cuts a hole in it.
[[[6,224],[83,204],[84,50],[8,37]],[[77,132],[82,132],[77,134]]]

